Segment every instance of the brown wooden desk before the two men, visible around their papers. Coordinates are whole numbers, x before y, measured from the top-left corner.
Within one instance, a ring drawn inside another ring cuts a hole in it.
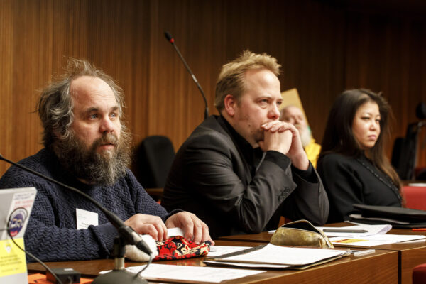
[[[217,241],[220,246],[256,246],[260,243],[249,241]],[[177,266],[205,266],[204,257],[180,261],[160,261],[159,264]],[[74,268],[82,276],[94,277],[99,271],[113,267],[113,260],[67,261],[47,263],[51,268]],[[143,263],[126,261],[126,266],[141,266]],[[29,273],[44,273],[38,263],[28,264]],[[347,256],[304,271],[268,270],[258,275],[224,281],[224,283],[398,283],[398,252],[378,250],[366,256]]]

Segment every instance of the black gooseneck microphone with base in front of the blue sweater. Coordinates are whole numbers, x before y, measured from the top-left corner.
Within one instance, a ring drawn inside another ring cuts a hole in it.
[[[0,160],[4,160],[7,163],[11,163],[12,165],[16,165],[16,167],[21,168],[23,170],[32,173],[33,175],[37,175],[40,178],[44,178],[50,182],[55,183],[56,185],[60,185],[62,187],[71,190],[72,192],[76,192],[79,195],[82,195],[84,198],[95,204],[107,217],[109,222],[115,226],[117,231],[119,232],[119,236],[116,236],[114,239],[114,269],[109,273],[105,273],[103,275],[99,275],[93,281],[94,284],[146,284],[148,283],[145,279],[138,277],[137,274],[126,271],[124,268],[124,253],[126,244],[135,245],[138,249],[148,254],[151,258],[151,249],[145,244],[145,242],[141,239],[136,231],[133,231],[131,227],[124,224],[124,222],[113,212],[110,212],[106,208],[104,208],[99,202],[94,200],[89,195],[84,192],[77,190],[75,187],[70,187],[69,185],[65,185],[62,182],[58,182],[58,180],[53,180],[53,178],[49,178],[48,176],[42,175],[41,173],[35,172],[35,170],[31,170],[31,168],[27,168],[24,165],[20,165],[11,160],[8,160],[0,154]],[[148,262],[147,266],[151,263],[151,259]],[[139,273],[138,273],[139,274]]]

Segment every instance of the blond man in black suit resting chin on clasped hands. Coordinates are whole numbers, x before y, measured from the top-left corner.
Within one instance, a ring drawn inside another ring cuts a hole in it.
[[[197,214],[213,238],[326,222],[327,194],[292,124],[279,121],[280,65],[246,50],[222,67],[215,107],[179,149],[162,205]]]

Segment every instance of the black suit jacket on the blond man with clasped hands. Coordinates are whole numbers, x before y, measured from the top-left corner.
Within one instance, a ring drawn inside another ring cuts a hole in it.
[[[196,214],[213,238],[276,229],[281,215],[324,224],[329,203],[317,173],[307,181],[281,156],[265,158],[252,176],[222,118],[210,116],[176,154],[161,204]]]

